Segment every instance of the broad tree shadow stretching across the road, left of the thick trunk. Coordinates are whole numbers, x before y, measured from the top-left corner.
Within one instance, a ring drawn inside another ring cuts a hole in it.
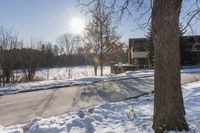
[[[106,102],[116,102],[137,97],[152,90],[152,78],[99,82],[81,89],[74,98],[74,106],[79,100],[89,102],[90,100],[101,99]]]

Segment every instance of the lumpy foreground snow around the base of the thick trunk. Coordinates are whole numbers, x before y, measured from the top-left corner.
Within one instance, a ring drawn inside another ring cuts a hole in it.
[[[182,86],[187,133],[200,131],[200,81]],[[51,118],[35,118],[29,124],[0,126],[1,133],[152,133],[153,94],[117,103],[104,103]],[[171,132],[172,133],[172,132]],[[185,132],[182,132],[185,133]]]

